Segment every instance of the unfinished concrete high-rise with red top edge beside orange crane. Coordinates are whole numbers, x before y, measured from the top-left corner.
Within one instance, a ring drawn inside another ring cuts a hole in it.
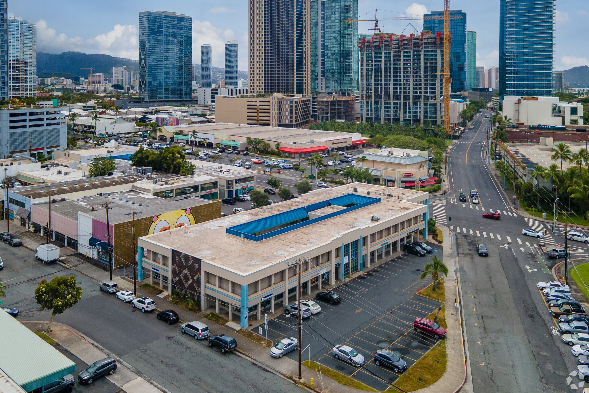
[[[444,121],[442,34],[378,33],[360,38],[359,90],[362,122],[432,125]]]

